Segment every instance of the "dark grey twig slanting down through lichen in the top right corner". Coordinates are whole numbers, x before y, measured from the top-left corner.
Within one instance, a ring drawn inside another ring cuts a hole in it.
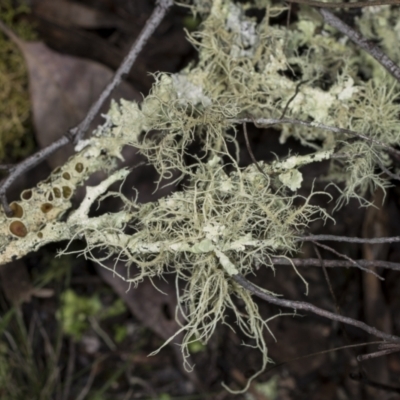
[[[371,3],[369,3],[369,5]],[[400,4],[400,1],[397,0],[397,3],[391,4]],[[325,4],[323,5],[323,7],[326,8]],[[351,28],[349,25],[345,24],[340,18],[336,17],[329,10],[324,10],[323,8],[321,8],[319,12],[324,17],[324,20],[327,24],[333,26],[338,31],[348,36],[351,41],[353,41],[357,46],[361,47],[368,54],[374,57],[375,60],[377,60],[384,68],[386,68],[386,70],[393,77],[400,81],[400,67],[392,59],[390,59],[378,46],[367,40],[363,35]]]

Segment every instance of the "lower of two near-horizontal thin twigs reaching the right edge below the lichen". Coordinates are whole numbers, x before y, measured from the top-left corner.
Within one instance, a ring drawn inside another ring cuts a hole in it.
[[[400,264],[393,263],[390,261],[376,261],[376,260],[355,260],[357,264],[362,265],[365,268],[387,268],[392,269],[395,271],[400,271]],[[274,265],[287,265],[292,266],[295,265],[296,267],[320,267],[321,263],[317,258],[291,258],[290,260],[286,257],[272,257],[271,262]],[[353,263],[350,261],[343,261],[343,260],[327,260],[324,259],[324,267],[325,268],[352,268],[355,267]]]

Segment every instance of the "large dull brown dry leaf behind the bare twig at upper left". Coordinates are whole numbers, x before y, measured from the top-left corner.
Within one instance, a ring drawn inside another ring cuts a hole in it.
[[[36,139],[40,147],[46,147],[85,117],[112,79],[113,71],[93,61],[57,53],[41,42],[25,42],[5,27],[2,30],[18,45],[26,60]],[[141,100],[139,92],[126,82],[114,90],[112,98]],[[106,102],[101,112],[106,112],[109,104],[110,101]],[[99,116],[89,131],[101,122]],[[73,146],[65,146],[48,162],[54,168],[72,154]]]

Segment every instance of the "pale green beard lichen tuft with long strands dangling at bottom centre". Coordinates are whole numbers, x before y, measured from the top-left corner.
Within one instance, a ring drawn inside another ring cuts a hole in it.
[[[214,156],[198,165],[182,192],[144,205],[125,199],[124,215],[129,216],[125,224],[135,233],[123,234],[120,224],[112,226],[110,221],[107,226],[90,228],[83,222],[84,214],[74,219],[79,223],[75,230],[86,240],[87,258],[135,265],[137,276],[124,278],[132,284],[171,272],[177,282],[185,283],[182,292],[178,291],[185,320],[180,330],[185,333],[185,359],[191,341],[206,343],[219,322],[227,323],[231,309],[238,329],[262,352],[262,371],[268,361],[263,336],[264,328],[269,330],[268,320],[261,318],[249,293],[230,277],[254,273],[260,265],[273,269],[272,256],[286,257],[297,251],[296,238],[309,223],[328,217],[310,204],[312,195],[289,195],[283,185],[274,186],[254,165],[236,168],[228,175],[221,159]],[[295,201],[302,205],[295,207]],[[101,260],[94,251],[99,249],[107,253]],[[235,299],[243,301],[245,313],[239,311]]]

